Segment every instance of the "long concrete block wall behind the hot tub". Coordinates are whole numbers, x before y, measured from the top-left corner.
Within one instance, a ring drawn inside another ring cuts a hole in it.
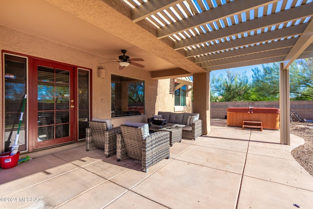
[[[224,119],[228,107],[275,107],[279,101],[262,102],[210,102],[211,118]],[[290,110],[295,110],[301,118],[313,119],[313,101],[290,101]]]

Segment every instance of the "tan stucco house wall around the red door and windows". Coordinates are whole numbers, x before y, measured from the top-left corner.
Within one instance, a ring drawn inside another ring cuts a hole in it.
[[[6,26],[0,25],[0,50],[11,51],[53,60],[66,64],[92,69],[92,117],[111,118],[111,74],[137,78],[145,81],[145,115],[152,116],[157,111],[173,111],[174,97],[169,94],[169,79],[151,79],[150,73],[146,70],[127,67],[125,70],[118,70],[117,63],[107,63],[103,57],[96,56],[75,48],[61,45],[44,38],[36,37],[31,34],[23,33]],[[2,59],[0,60],[2,69]],[[105,78],[98,78],[97,69],[101,66],[106,70]],[[0,79],[0,116],[3,118],[3,80]],[[158,89],[159,88],[159,89]],[[190,94],[191,95],[191,94]],[[188,99],[191,112],[191,96]],[[134,119],[134,118],[132,118]],[[142,121],[143,118],[137,117]],[[125,118],[127,120],[127,118]],[[119,121],[120,122],[120,121]],[[3,127],[3,121],[0,121]],[[3,130],[0,128],[0,136]],[[0,142],[0,150],[2,150]]]

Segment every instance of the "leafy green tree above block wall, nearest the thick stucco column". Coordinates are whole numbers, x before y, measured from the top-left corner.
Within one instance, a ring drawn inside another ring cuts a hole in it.
[[[249,85],[246,72],[243,74],[226,70],[226,78],[221,74],[211,80],[211,101],[243,101],[248,95]]]

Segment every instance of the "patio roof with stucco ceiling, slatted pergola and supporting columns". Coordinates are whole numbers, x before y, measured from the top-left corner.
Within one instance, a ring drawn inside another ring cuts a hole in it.
[[[193,76],[204,132],[210,71],[281,62],[280,141],[290,144],[289,66],[313,57],[313,0],[20,0],[18,8],[14,2],[0,3],[1,24],[104,62],[127,48],[155,79]]]

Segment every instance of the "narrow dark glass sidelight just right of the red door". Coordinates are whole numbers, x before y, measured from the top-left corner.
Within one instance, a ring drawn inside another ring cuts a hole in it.
[[[89,70],[78,71],[78,139],[86,138],[89,121]]]

